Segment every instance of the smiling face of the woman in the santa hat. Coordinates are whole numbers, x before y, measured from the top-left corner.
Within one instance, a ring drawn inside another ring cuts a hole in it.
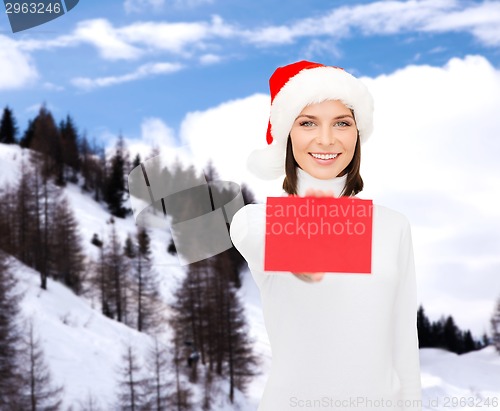
[[[300,168],[322,180],[342,174],[354,156],[357,135],[351,110],[339,100],[306,106],[290,130]]]

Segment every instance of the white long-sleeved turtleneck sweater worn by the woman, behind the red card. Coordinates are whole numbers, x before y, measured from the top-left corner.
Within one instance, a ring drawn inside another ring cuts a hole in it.
[[[345,177],[308,187],[333,189]],[[372,273],[326,273],[308,283],[264,271],[265,205],[247,205],[231,239],[257,283],[272,367],[258,411],[421,410],[416,278],[408,220],[373,207]]]

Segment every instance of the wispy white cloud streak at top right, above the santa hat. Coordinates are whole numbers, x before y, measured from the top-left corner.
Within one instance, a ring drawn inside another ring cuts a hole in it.
[[[324,16],[292,24],[268,26],[241,33],[259,45],[290,44],[303,37],[349,37],[358,30],[366,36],[411,32],[468,32],[487,46],[500,45],[500,3],[458,0],[378,1],[343,6]]]

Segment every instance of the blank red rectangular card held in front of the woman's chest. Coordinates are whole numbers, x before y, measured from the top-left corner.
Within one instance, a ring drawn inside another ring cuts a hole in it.
[[[269,197],[264,269],[371,273],[372,200]]]

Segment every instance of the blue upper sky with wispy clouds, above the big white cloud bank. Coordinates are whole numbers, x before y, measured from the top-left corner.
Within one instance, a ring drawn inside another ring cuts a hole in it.
[[[46,102],[91,138],[133,138],[145,117],[178,129],[187,112],[266,93],[299,59],[371,77],[467,54],[498,66],[498,21],[492,1],[81,0],[16,34],[3,14],[0,76],[16,81],[0,81],[0,104],[21,129]]]

